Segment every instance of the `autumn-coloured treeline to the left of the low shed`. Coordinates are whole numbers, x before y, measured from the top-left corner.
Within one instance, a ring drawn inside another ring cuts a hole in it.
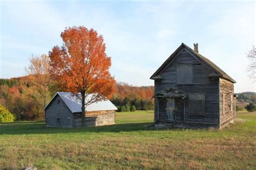
[[[47,91],[50,100],[51,94]],[[0,79],[0,105],[16,115],[17,120],[43,120],[43,90],[29,76]]]

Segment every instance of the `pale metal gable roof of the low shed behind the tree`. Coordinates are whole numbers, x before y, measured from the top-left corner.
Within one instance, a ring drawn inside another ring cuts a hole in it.
[[[71,93],[71,92],[57,92],[55,94],[55,96],[51,99],[49,104],[52,102],[52,100],[57,95],[59,95],[59,97],[62,98],[62,100],[64,101],[66,106],[69,107],[69,109],[72,113],[81,112],[82,101],[80,99],[78,99],[75,95],[73,95],[73,93]],[[85,100],[89,100],[92,97],[92,95],[93,94],[87,96],[87,98]],[[44,107],[44,110],[45,110],[45,108],[47,108],[49,106],[49,104]],[[106,110],[117,110],[117,107],[114,106],[110,100],[106,99],[106,100],[97,101],[95,103],[92,103],[92,104],[86,106],[86,108],[85,108],[85,112],[106,111]]]

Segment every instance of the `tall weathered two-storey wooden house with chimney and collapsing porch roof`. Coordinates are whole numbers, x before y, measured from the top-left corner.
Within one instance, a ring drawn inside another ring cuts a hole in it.
[[[150,77],[156,127],[223,128],[235,117],[234,83],[217,65],[182,43]]]

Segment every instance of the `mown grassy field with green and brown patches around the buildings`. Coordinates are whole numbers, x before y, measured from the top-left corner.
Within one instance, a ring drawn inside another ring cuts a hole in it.
[[[256,112],[223,130],[156,130],[153,112],[117,113],[116,125],[0,124],[0,166],[19,169],[255,169]]]

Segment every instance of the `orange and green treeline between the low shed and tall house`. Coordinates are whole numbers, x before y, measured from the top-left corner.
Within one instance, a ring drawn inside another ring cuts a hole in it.
[[[153,109],[153,86],[131,86],[126,83],[117,83],[111,101],[117,106],[118,112],[133,112],[136,110]]]

